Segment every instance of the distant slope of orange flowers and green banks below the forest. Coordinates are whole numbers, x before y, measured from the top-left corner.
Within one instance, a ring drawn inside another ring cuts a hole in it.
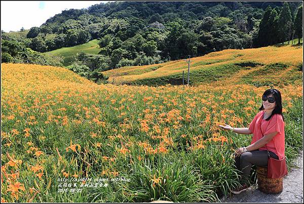
[[[248,79],[247,83],[262,86],[263,83],[264,85],[271,84],[263,81],[261,84],[255,83],[252,75],[263,76],[262,78],[257,77],[258,80],[267,80],[267,77],[272,78],[278,74],[286,76],[286,79],[302,78],[302,72],[299,71],[302,66],[302,57],[302,47],[298,45],[278,45],[244,50],[229,49],[209,53],[202,57],[191,58],[190,84],[198,85],[233,77],[234,82]],[[269,69],[269,66],[273,71],[265,71]],[[187,69],[186,61],[177,60],[163,64],[121,67],[102,73],[109,76],[109,81],[114,84],[154,86],[170,83],[180,85],[182,84],[182,71],[184,71],[186,83]],[[261,73],[259,74],[259,72]],[[273,80],[273,85],[276,85],[276,80]]]

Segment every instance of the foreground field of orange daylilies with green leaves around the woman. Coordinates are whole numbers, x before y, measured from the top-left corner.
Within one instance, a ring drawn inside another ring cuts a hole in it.
[[[274,88],[292,167],[302,149],[303,87],[301,58],[289,59]],[[292,70],[296,80],[284,75]],[[248,127],[270,88],[240,83],[249,70],[189,87],[97,85],[30,64],[2,64],[1,72],[2,202],[216,202],[238,185],[234,150],[251,141],[218,125]],[[62,179],[73,182],[61,187]]]

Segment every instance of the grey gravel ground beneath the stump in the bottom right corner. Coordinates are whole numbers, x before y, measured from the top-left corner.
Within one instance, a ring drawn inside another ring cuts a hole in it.
[[[240,194],[223,197],[221,202],[291,202],[303,203],[303,151],[296,160],[298,168],[283,178],[283,191],[279,194],[265,194],[253,186]]]

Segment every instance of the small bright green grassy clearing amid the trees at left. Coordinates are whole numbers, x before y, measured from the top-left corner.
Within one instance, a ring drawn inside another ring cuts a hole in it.
[[[58,50],[53,50],[51,52],[46,52],[46,55],[60,55],[64,58],[64,66],[67,66],[70,64],[71,58],[75,56],[77,53],[90,53],[90,54],[98,54],[100,51],[99,45],[98,45],[98,39],[93,39],[89,41],[88,43],[73,46],[69,48],[61,48]]]

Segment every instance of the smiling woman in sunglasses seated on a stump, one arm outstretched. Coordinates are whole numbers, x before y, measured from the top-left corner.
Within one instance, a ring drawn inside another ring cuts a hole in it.
[[[262,105],[249,128],[232,128],[229,125],[219,127],[239,134],[253,134],[251,144],[236,151],[235,164],[242,171],[241,186],[231,190],[239,194],[248,189],[249,174],[252,165],[267,167],[269,154],[272,158],[282,159],[285,152],[284,117],[282,115],[281,93],[268,89],[262,95]],[[269,154],[268,154],[269,152]]]

